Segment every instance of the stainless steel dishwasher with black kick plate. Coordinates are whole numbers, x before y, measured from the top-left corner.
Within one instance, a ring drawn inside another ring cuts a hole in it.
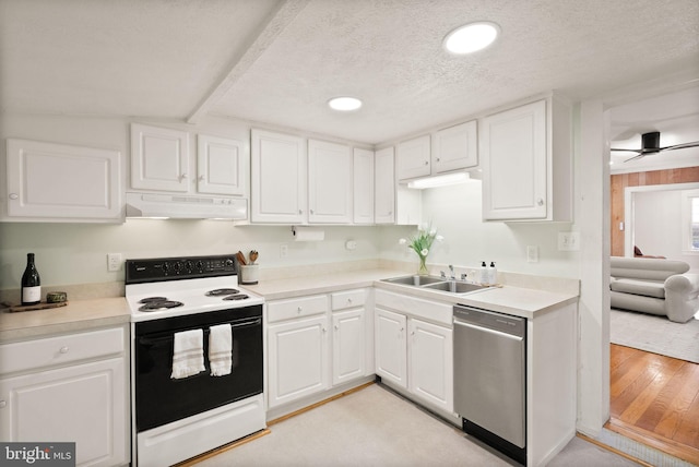
[[[463,430],[526,464],[526,320],[454,307],[454,411]]]

